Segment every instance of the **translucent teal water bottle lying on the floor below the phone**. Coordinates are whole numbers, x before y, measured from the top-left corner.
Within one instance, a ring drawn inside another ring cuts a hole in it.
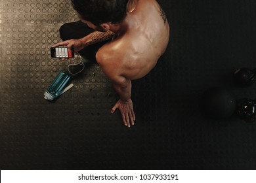
[[[72,78],[68,73],[60,71],[56,78],[54,78],[51,85],[47,88],[47,91],[45,92],[45,99],[53,101],[56,97],[72,88],[72,86],[74,86],[73,84],[68,86],[70,80],[72,80]]]

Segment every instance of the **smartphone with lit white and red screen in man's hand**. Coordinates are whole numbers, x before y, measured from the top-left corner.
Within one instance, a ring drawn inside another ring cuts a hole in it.
[[[67,47],[51,47],[52,58],[74,58],[74,48],[68,50]]]

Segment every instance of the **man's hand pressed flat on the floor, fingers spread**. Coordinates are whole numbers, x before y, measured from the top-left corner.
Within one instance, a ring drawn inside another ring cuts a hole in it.
[[[114,113],[116,111],[116,108],[120,110],[121,116],[123,118],[123,123],[126,126],[131,127],[131,125],[134,125],[135,113],[133,111],[133,101],[131,101],[131,99],[127,101],[122,101],[121,99],[119,99],[116,105],[114,105],[114,107],[112,108],[111,113]]]

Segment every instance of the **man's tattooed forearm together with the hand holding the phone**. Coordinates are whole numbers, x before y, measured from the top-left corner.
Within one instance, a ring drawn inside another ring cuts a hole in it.
[[[69,39],[67,41],[58,42],[57,44],[54,44],[53,47],[66,46],[69,49],[74,48],[75,52],[79,52],[80,50],[85,48],[85,46],[89,46],[97,42],[106,41],[108,39],[111,39],[113,36],[114,36],[114,33],[112,33],[112,31],[106,31],[106,32],[94,31],[93,33],[81,39]]]

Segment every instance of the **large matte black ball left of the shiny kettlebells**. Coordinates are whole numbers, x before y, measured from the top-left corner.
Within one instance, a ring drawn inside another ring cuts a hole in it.
[[[207,118],[221,120],[234,114],[236,100],[223,88],[209,88],[203,93],[201,107]]]

